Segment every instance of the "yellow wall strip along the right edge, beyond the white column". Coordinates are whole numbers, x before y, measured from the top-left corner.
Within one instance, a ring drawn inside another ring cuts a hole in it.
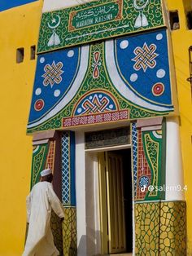
[[[190,0],[185,2],[190,3]],[[167,0],[169,11],[177,10],[180,19],[180,29],[172,31],[172,47],[177,76],[177,93],[181,115],[181,150],[185,185],[185,199],[187,204],[187,246],[188,255],[192,255],[192,98],[190,82],[189,47],[192,46],[192,30],[187,29],[185,10],[182,0]]]

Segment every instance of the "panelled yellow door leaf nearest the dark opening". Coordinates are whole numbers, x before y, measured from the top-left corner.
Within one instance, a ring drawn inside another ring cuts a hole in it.
[[[123,161],[112,152],[107,152],[107,213],[109,253],[125,252]]]

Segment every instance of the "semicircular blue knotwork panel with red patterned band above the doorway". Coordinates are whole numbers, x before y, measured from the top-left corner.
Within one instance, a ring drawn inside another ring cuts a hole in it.
[[[63,127],[127,121],[128,119],[129,111],[120,111],[115,97],[107,90],[92,90],[83,95],[76,103],[72,111],[72,117],[63,118]]]

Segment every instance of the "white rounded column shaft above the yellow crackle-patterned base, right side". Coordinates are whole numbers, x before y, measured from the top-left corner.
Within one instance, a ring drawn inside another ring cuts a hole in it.
[[[185,200],[185,193],[179,191],[179,186],[184,188],[179,120],[177,117],[166,120],[166,186],[170,190],[166,188],[166,201]]]

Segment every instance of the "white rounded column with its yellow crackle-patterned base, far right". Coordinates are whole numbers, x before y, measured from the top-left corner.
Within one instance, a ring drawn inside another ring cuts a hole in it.
[[[160,203],[159,254],[186,255],[185,185],[178,117],[166,118],[166,192]]]

